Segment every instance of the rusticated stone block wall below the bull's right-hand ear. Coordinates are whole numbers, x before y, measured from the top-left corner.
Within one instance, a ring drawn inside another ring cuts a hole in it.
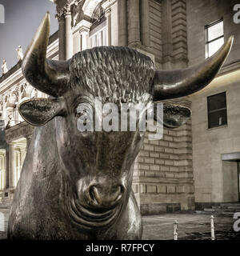
[[[133,190],[142,214],[194,209],[191,120],[144,139],[134,165]]]

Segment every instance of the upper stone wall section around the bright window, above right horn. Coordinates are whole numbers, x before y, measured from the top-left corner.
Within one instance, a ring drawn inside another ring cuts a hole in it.
[[[235,24],[233,20],[234,14],[236,13],[234,11],[235,4],[239,4],[239,1],[187,1],[187,34],[190,65],[194,65],[195,63],[201,62],[205,59],[204,27],[221,18],[223,18],[225,41],[230,37],[230,35],[234,35],[234,45],[226,59],[225,66],[230,63],[239,62],[239,24]]]

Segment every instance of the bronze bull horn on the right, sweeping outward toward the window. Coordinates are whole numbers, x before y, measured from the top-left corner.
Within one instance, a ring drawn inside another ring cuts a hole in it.
[[[231,36],[211,58],[183,70],[158,70],[154,76],[154,101],[194,94],[218,74],[234,41]]]

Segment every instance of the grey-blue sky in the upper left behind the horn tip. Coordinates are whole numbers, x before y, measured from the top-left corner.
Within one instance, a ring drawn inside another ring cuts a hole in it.
[[[50,34],[58,30],[58,20],[55,18],[56,6],[50,0],[0,0],[0,5],[5,8],[5,23],[0,23],[1,76],[2,59],[6,59],[9,70],[17,64],[16,49],[22,46],[25,52],[46,11],[50,11]]]

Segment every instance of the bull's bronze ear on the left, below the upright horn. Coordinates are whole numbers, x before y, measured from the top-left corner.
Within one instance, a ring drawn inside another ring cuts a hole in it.
[[[63,98],[34,98],[19,106],[22,118],[32,126],[43,126],[52,118],[66,113]]]

